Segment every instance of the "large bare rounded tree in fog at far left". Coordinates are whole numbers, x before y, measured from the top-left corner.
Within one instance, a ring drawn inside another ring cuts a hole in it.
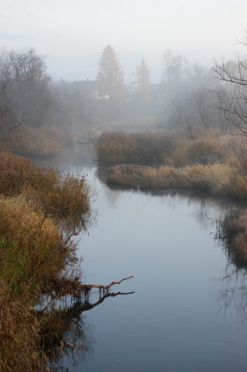
[[[47,115],[51,79],[44,57],[33,48],[0,53],[1,131],[22,124],[39,125]]]

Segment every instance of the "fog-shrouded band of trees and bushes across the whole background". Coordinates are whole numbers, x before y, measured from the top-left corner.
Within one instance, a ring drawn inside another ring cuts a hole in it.
[[[246,45],[246,43],[244,42]],[[133,81],[115,50],[106,46],[96,80],[52,81],[45,58],[34,49],[0,52],[0,135],[21,125],[55,125],[135,130],[150,127],[190,128],[201,125],[246,135],[247,61],[215,62],[210,68],[191,65],[171,50],[163,53],[160,82],[150,81],[142,59],[133,66]],[[117,123],[117,125],[116,125]]]

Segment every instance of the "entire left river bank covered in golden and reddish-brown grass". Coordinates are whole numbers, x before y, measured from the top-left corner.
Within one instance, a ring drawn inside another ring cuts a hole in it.
[[[79,283],[73,236],[86,227],[90,193],[84,177],[0,153],[0,371],[46,370],[44,345],[62,327],[52,298]],[[46,311],[36,310],[41,295]]]

